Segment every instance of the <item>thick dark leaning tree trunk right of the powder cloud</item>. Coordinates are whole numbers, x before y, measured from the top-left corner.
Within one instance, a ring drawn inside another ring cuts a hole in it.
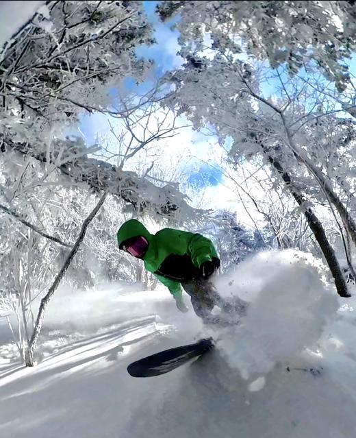
[[[262,149],[264,149],[263,146]],[[292,193],[292,196],[294,197],[298,205],[303,206],[303,204],[305,203],[305,198],[303,197],[303,195],[301,195],[301,193],[298,193],[296,189],[292,186],[292,179],[290,178],[289,173],[284,171],[280,162],[276,160],[276,158],[272,158],[265,149],[264,153],[267,154],[270,164],[277,170],[279,175],[281,175],[281,178],[290,190],[290,193]],[[309,207],[305,208],[304,215],[307,219],[307,223],[309,224],[310,229],[315,236],[316,241],[320,246],[320,249],[322,250],[322,254],[324,254],[325,256],[325,260],[327,260],[327,264],[329,266],[333,279],[335,280],[335,287],[338,291],[338,294],[340,295],[340,297],[344,298],[351,297],[351,295],[348,293],[346,280],[340,269],[340,265],[338,263],[338,259],[336,258],[335,251],[333,250],[333,247],[331,247],[327,239],[327,235],[325,234],[325,230],[322,227],[322,223]]]

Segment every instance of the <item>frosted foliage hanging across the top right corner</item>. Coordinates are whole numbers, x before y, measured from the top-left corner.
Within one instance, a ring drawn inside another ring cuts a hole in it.
[[[179,14],[188,53],[203,49],[206,33],[213,47],[224,42],[234,53],[268,60],[272,69],[285,64],[294,75],[314,64],[339,91],[351,83],[345,60],[356,49],[354,1],[169,0],[157,5],[157,14],[162,21]]]

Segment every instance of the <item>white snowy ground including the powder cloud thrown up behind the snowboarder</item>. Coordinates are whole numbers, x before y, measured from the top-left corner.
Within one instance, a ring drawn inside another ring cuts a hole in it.
[[[19,367],[0,326],[0,437],[353,437],[356,300],[338,300],[320,274],[292,251],[247,260],[216,283],[249,312],[214,331],[163,289],[58,291],[33,369]],[[199,361],[127,374],[131,361],[209,334],[216,350]]]

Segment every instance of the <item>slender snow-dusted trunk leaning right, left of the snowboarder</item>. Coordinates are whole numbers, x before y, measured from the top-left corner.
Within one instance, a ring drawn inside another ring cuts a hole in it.
[[[105,192],[101,198],[99,199],[99,202],[94,207],[90,215],[86,218],[86,220],[83,222],[83,225],[81,226],[81,230],[79,232],[79,236],[77,238],[77,241],[73,245],[73,248],[71,252],[68,254],[68,257],[66,258],[66,261],[64,262],[64,265],[62,266],[62,269],[56,276],[52,286],[49,288],[49,291],[47,292],[47,295],[44,296],[41,300],[40,308],[38,309],[38,315],[36,318],[36,323],[34,326],[34,332],[32,333],[31,339],[29,341],[29,348],[27,349],[26,354],[26,366],[27,367],[33,367],[34,366],[34,351],[36,350],[36,345],[38,341],[38,337],[40,336],[40,331],[42,328],[42,323],[44,319],[44,311],[46,310],[47,304],[51,300],[51,297],[55,293],[55,290],[57,289],[58,285],[60,284],[60,281],[64,277],[64,274],[66,273],[66,270],[68,269],[69,265],[71,265],[71,262],[77,254],[77,251],[79,250],[79,246],[81,242],[84,239],[84,236],[86,235],[86,230],[89,226],[89,223],[94,219],[95,215],[97,215],[97,212],[103,205],[105,198],[107,197],[107,192]]]

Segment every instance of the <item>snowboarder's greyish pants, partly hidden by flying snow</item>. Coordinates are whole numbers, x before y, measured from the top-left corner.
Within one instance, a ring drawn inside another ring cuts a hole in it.
[[[205,319],[214,306],[222,306],[223,300],[211,280],[192,278],[181,283],[183,289],[190,295],[190,301],[196,315]]]

